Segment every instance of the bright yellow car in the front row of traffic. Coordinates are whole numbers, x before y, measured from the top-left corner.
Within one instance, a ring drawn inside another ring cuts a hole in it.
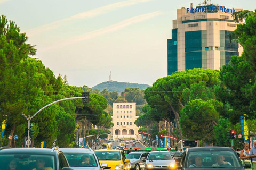
[[[110,170],[130,170],[130,159],[126,159],[124,152],[122,150],[112,150],[108,149],[100,149],[95,150],[95,154],[97,155],[100,164],[107,163],[108,167],[104,169]]]

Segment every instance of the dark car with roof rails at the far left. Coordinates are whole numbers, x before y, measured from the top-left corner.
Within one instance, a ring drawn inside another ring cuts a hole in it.
[[[73,170],[69,167],[68,160],[58,147],[49,148],[9,148],[0,150],[0,167],[9,169],[9,163],[17,169],[45,169]]]

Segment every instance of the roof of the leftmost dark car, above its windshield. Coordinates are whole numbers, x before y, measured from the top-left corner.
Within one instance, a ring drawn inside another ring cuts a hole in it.
[[[57,148],[8,148],[0,150],[1,154],[47,154],[55,155],[56,152],[61,152]]]

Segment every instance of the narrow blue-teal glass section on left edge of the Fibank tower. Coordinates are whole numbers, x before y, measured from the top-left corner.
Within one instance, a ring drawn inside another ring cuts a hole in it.
[[[178,70],[177,29],[172,30],[172,39],[167,40],[167,71],[168,75]]]

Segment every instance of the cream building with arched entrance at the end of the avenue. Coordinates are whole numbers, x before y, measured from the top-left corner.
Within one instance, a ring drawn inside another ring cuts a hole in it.
[[[110,129],[113,139],[140,138],[139,127],[134,122],[136,116],[136,103],[113,103],[113,128]]]

